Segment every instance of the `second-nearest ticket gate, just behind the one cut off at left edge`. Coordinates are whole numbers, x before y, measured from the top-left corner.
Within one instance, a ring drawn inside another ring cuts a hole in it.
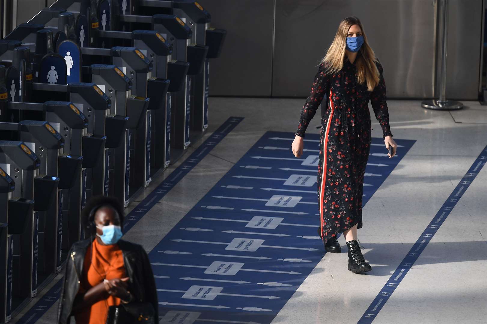
[[[25,143],[0,141],[0,167],[16,181],[15,197],[33,200],[34,179],[39,166],[39,158]],[[9,208],[9,213],[13,216],[12,220],[18,215],[13,214],[12,208]],[[24,229],[20,231],[21,234],[11,238],[14,269],[12,293],[14,297],[30,298],[37,294],[38,215],[33,208],[29,209],[21,225]]]

